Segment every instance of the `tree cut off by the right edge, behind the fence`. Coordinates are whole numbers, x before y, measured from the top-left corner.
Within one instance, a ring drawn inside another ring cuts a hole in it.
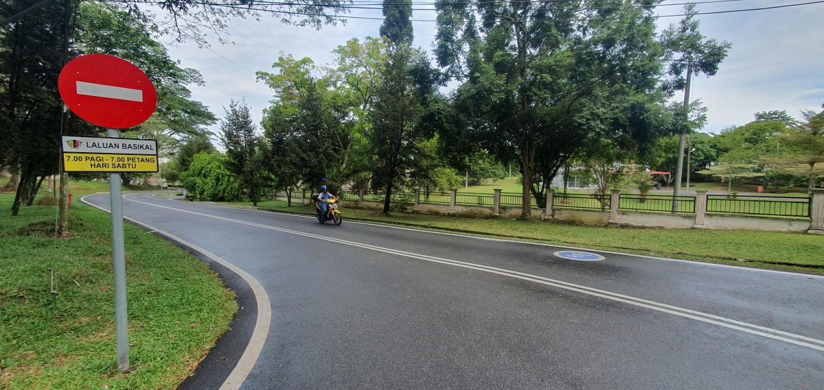
[[[806,176],[808,188],[824,176],[824,111],[803,111],[806,122],[779,136],[789,156],[764,156],[761,161],[782,173]]]

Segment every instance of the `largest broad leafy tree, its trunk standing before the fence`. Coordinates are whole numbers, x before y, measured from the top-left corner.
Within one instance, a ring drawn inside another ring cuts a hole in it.
[[[464,118],[457,132],[466,135],[457,138],[517,161],[522,218],[545,191],[537,183],[550,183],[586,146],[604,104],[655,91],[662,51],[654,2],[632,3],[437,2],[438,64],[466,81],[455,98]]]

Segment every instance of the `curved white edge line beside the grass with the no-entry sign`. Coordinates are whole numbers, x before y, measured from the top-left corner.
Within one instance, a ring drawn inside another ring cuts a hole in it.
[[[128,199],[129,201],[135,202],[126,195],[133,195],[124,194],[123,197]],[[102,211],[109,212],[103,207],[91,204],[87,202],[86,198],[90,197],[91,195],[87,195],[85,197],[80,198],[80,201],[86,203],[91,207],[96,207],[101,209]],[[269,295],[266,294],[266,290],[264,289],[263,285],[260,284],[260,281],[255,279],[255,276],[251,276],[249,272],[244,271],[241,267],[237,267],[232,262],[227,262],[226,260],[220,258],[218,255],[209,252],[204,248],[200,248],[199,246],[192,244],[185,239],[181,239],[174,234],[169,232],[157,229],[152,225],[145,224],[141,221],[134,220],[133,218],[129,218],[128,216],[124,216],[124,219],[132,221],[137,225],[142,225],[148,229],[155,230],[159,233],[166,234],[171,239],[175,239],[176,241],[180,242],[180,244],[184,244],[193,248],[195,251],[199,253],[203,253],[204,256],[207,258],[212,259],[214,262],[218,262],[223,267],[227,267],[228,269],[235,272],[237,275],[241,276],[244,281],[251,287],[252,293],[255,294],[255,302],[257,303],[258,315],[257,320],[255,321],[255,330],[252,331],[252,336],[250,337],[249,344],[246,345],[246,350],[243,351],[243,355],[241,355],[241,359],[237,360],[237,364],[235,368],[232,369],[232,373],[226,378],[226,380],[222,383],[221,387],[218,390],[236,390],[241,387],[243,381],[246,380],[246,377],[249,375],[252,368],[255,366],[255,362],[257,361],[258,357],[260,356],[260,352],[263,351],[263,346],[266,342],[266,335],[269,334],[269,325],[272,321],[272,306],[269,303]]]

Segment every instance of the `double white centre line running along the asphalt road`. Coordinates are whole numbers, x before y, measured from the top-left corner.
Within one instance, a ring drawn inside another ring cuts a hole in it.
[[[768,338],[778,340],[778,341],[789,342],[789,343],[795,344],[797,346],[806,346],[806,347],[812,348],[814,350],[824,351],[824,341],[818,340],[818,339],[815,339],[815,338],[812,338],[812,337],[805,337],[805,336],[797,335],[797,334],[790,333],[790,332],[780,331],[778,329],[773,329],[773,328],[770,328],[770,327],[761,327],[761,326],[758,326],[758,325],[753,325],[753,324],[750,324],[750,323],[745,323],[745,322],[742,322],[742,321],[733,320],[731,318],[724,318],[724,317],[717,316],[717,315],[714,315],[714,314],[702,313],[702,312],[699,312],[699,311],[695,311],[695,310],[691,310],[691,309],[684,309],[684,308],[680,308],[680,307],[677,307],[677,306],[672,306],[672,305],[669,305],[669,304],[662,304],[662,303],[658,303],[658,302],[648,300],[648,299],[635,298],[635,297],[630,296],[630,295],[621,295],[621,294],[613,293],[611,291],[599,290],[599,289],[595,289],[595,288],[588,287],[588,286],[576,285],[574,283],[569,283],[569,282],[566,282],[566,281],[558,281],[558,280],[546,278],[546,277],[543,277],[543,276],[536,276],[536,275],[531,275],[531,274],[527,274],[527,273],[523,273],[523,272],[510,271],[510,270],[506,270],[506,269],[503,269],[503,268],[489,267],[489,266],[485,266],[485,265],[481,265],[481,264],[475,264],[475,263],[471,263],[471,262],[461,262],[461,261],[451,260],[451,259],[447,259],[447,258],[436,258],[436,257],[433,257],[433,256],[428,256],[428,255],[419,254],[419,253],[404,252],[404,251],[400,251],[400,250],[397,250],[397,249],[382,248],[382,247],[378,247],[378,246],[375,246],[375,245],[362,244],[362,243],[357,243],[357,242],[353,242],[353,241],[347,241],[347,240],[344,240],[344,239],[334,239],[334,238],[330,238],[330,237],[323,237],[323,236],[319,236],[317,234],[304,233],[304,232],[297,231],[297,230],[288,230],[288,229],[283,229],[283,228],[279,228],[279,227],[276,227],[276,226],[257,224],[257,223],[254,223],[254,222],[235,220],[235,219],[232,219],[232,218],[226,218],[226,217],[222,217],[222,216],[213,216],[213,215],[198,212],[198,211],[188,211],[188,210],[183,210],[183,209],[179,209],[179,208],[176,208],[176,207],[161,206],[161,205],[157,205],[157,204],[154,204],[154,203],[136,201],[136,200],[133,200],[133,199],[129,199],[129,201],[130,202],[136,202],[136,203],[142,203],[142,204],[152,206],[152,207],[166,208],[166,209],[169,209],[169,210],[172,210],[172,211],[180,211],[180,212],[185,212],[185,213],[194,214],[194,215],[198,215],[198,216],[206,216],[208,218],[213,218],[213,219],[222,220],[222,221],[234,222],[234,223],[238,223],[238,224],[241,224],[241,225],[250,225],[250,226],[260,227],[260,228],[268,229],[268,230],[276,230],[276,231],[280,231],[280,232],[288,233],[288,234],[302,235],[302,236],[309,237],[309,238],[312,238],[312,239],[322,239],[322,240],[325,240],[325,241],[334,242],[336,244],[345,244],[345,245],[358,247],[358,248],[366,248],[366,249],[374,250],[374,251],[377,251],[377,252],[390,253],[390,254],[395,254],[395,255],[399,255],[399,256],[404,256],[404,257],[407,257],[407,258],[417,258],[417,259],[425,260],[425,261],[428,261],[428,262],[439,262],[439,263],[442,263],[442,264],[452,265],[452,266],[456,266],[456,267],[471,268],[471,269],[475,269],[477,271],[489,272],[489,273],[494,273],[494,274],[503,275],[503,276],[510,276],[510,277],[514,277],[514,278],[517,278],[517,279],[522,279],[522,280],[525,280],[525,281],[534,281],[536,283],[541,283],[541,284],[544,284],[544,285],[547,285],[547,286],[554,286],[554,287],[561,288],[561,289],[564,289],[564,290],[573,290],[573,291],[576,291],[576,292],[579,292],[579,293],[582,293],[582,294],[586,294],[586,295],[594,295],[594,296],[598,296],[598,297],[601,297],[601,298],[604,298],[604,299],[611,299],[611,300],[623,302],[625,304],[632,304],[632,305],[644,307],[644,308],[647,308],[647,309],[657,310],[657,311],[660,311],[660,312],[663,312],[663,313],[670,313],[670,314],[674,314],[674,315],[681,316],[681,317],[684,317],[684,318],[695,319],[695,320],[698,320],[698,321],[701,321],[701,322],[704,322],[704,323],[711,323],[711,324],[714,324],[714,325],[718,325],[720,327],[728,327],[730,329],[735,329],[735,330],[738,330],[738,331],[741,331],[741,332],[751,333],[751,334],[754,334],[754,335],[757,335],[757,336],[768,337]],[[761,332],[761,331],[765,331],[765,332]],[[775,333],[775,334],[770,334],[770,333],[766,333],[766,332],[772,332],[772,333]],[[784,335],[784,336],[787,336],[787,337],[776,336],[776,335]],[[809,342],[804,342],[804,341],[798,341],[798,340],[794,340],[794,339],[788,338],[788,337],[794,337],[795,339],[799,339],[799,340],[811,341],[812,343],[816,343],[816,344],[820,344],[820,345],[815,345],[815,344],[811,344]]]

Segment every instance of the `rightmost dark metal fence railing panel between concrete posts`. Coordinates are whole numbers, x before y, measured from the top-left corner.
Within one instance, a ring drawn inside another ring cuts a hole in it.
[[[810,198],[708,195],[707,212],[808,218],[810,216]]]

